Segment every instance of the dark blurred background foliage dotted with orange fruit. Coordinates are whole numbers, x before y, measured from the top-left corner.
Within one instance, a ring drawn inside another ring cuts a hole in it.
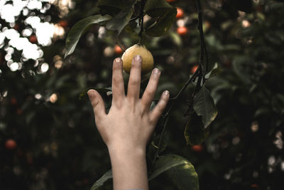
[[[97,1],[75,3],[64,16],[59,3],[44,14],[37,10],[29,14],[50,16],[50,23],[65,21],[66,37],[77,21],[99,11]],[[182,8],[185,16],[164,36],[143,36],[155,66],[162,71],[157,98],[163,90],[169,90],[171,97],[178,93],[200,52],[195,1],[170,4]],[[179,154],[190,161],[197,170],[200,189],[284,189],[284,4],[252,1],[251,13],[232,5],[229,0],[202,1],[209,68],[218,63],[221,70],[206,83],[218,110],[209,136],[197,145],[199,149],[186,145],[185,102],[193,93],[192,84],[170,113],[168,147],[163,153]],[[117,14],[120,9],[111,10]],[[0,19],[1,31],[7,27],[21,33],[27,27],[26,17],[21,12],[15,25]],[[148,22],[150,27],[151,19]],[[65,60],[65,38],[53,38],[50,46],[38,45],[44,53],[39,60],[23,60],[21,51],[15,49],[13,60],[22,63],[16,71],[7,65],[9,39],[5,39],[0,49],[1,189],[90,189],[110,169],[92,107],[87,100],[79,100],[79,95],[87,88],[111,85],[112,61],[121,56],[114,46],[120,43],[127,48],[138,42],[133,29],[137,23],[131,24],[119,38],[115,31],[89,26]],[[177,32],[180,26],[186,26],[185,35]],[[57,66],[59,60],[64,62],[62,67]],[[40,73],[44,62],[49,69]],[[156,132],[159,130],[158,126]],[[7,148],[7,139],[13,139],[16,147]],[[177,189],[165,179],[167,174],[158,176],[150,181],[150,188]]]

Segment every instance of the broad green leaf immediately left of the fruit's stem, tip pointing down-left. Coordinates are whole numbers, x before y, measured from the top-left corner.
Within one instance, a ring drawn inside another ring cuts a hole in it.
[[[118,31],[119,33],[121,33],[124,26],[126,26],[129,23],[132,14],[133,14],[133,5],[121,9],[119,14],[117,14],[116,16],[114,16],[114,18],[112,18],[107,22],[106,25],[107,29],[112,31]]]

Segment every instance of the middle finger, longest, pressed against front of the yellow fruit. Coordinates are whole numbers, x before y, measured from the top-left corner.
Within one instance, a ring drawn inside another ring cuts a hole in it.
[[[135,56],[132,60],[130,76],[129,76],[129,86],[127,89],[127,98],[131,102],[136,102],[139,99],[140,83],[141,83],[141,56]]]

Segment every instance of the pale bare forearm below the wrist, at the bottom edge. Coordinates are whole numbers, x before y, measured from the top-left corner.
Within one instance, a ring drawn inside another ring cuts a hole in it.
[[[109,148],[114,190],[148,190],[146,151],[144,149]]]

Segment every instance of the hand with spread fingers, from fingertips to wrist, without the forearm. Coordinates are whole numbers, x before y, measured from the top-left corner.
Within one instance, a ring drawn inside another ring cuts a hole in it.
[[[104,101],[96,90],[89,90],[97,129],[109,149],[138,149],[145,151],[148,139],[169,99],[166,90],[157,105],[150,110],[160,78],[160,70],[153,69],[145,92],[139,99],[141,84],[141,56],[133,58],[127,95],[124,93],[122,60],[116,58],[112,73],[112,104],[107,114]]]

